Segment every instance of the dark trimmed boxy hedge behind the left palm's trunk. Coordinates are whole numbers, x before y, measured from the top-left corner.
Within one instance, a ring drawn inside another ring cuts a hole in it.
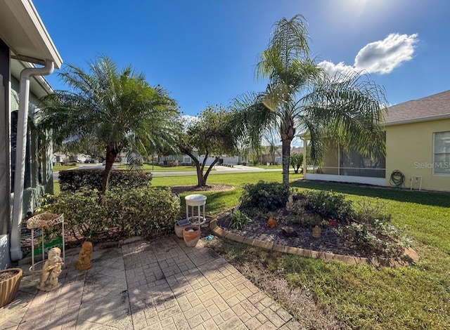
[[[60,190],[76,192],[84,188],[101,190],[104,170],[71,170],[59,172]],[[110,173],[109,188],[148,187],[152,180],[151,173],[139,171],[115,170]]]

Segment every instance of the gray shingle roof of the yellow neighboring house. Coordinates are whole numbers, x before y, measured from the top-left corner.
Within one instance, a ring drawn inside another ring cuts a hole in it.
[[[450,117],[450,91],[411,100],[387,108],[385,124],[402,121],[428,121],[432,117]],[[437,118],[436,118],[437,119]]]

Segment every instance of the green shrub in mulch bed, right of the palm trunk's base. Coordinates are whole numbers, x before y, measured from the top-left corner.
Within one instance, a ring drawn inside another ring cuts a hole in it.
[[[307,192],[304,208],[318,214],[323,220],[334,219],[349,223],[354,217],[352,202],[346,201],[343,194],[323,190]]]

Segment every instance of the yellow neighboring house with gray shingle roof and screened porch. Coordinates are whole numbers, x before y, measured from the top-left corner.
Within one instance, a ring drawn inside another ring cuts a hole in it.
[[[368,159],[332,144],[320,173],[306,178],[390,186],[399,171],[402,187],[450,191],[450,91],[389,107],[385,132],[385,155]]]

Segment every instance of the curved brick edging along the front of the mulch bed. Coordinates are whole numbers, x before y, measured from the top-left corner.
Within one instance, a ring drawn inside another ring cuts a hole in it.
[[[373,265],[374,267],[400,267],[405,265],[410,265],[419,260],[418,253],[413,249],[405,249],[404,255],[400,258],[362,258],[356,256],[343,256],[342,254],[334,254],[322,251],[314,251],[308,249],[301,249],[293,246],[285,246],[281,244],[274,244],[271,242],[259,241],[258,239],[252,239],[249,237],[242,237],[240,235],[233,234],[223,230],[217,225],[217,218],[210,220],[210,230],[214,235],[218,237],[223,237],[230,239],[231,241],[243,243],[251,246],[257,246],[259,248],[277,251],[282,253],[297,254],[297,256],[316,258],[323,260],[337,260],[342,263],[347,263],[348,265]]]

